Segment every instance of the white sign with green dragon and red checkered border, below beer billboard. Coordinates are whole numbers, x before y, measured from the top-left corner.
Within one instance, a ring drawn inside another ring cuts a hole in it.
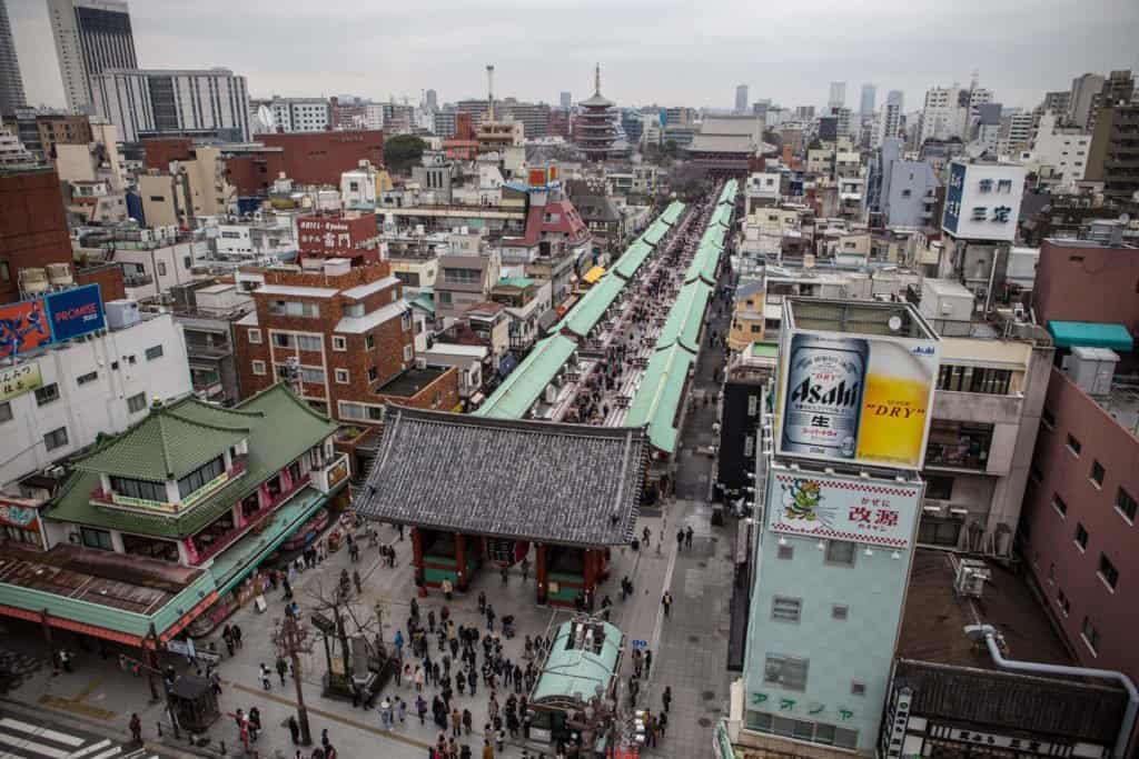
[[[768,476],[768,528],[827,541],[907,548],[921,509],[921,484],[794,469]]]

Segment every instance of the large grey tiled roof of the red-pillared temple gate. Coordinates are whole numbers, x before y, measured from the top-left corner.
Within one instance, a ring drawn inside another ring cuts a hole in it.
[[[370,519],[565,545],[633,536],[645,430],[387,406],[353,509]]]

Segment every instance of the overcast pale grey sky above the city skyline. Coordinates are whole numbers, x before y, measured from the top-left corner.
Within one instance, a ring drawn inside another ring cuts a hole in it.
[[[62,106],[44,0],[7,0],[27,97]],[[254,97],[352,93],[557,102],[601,89],[620,105],[822,105],[846,81],[906,93],[969,81],[1035,106],[1084,72],[1139,67],[1139,0],[132,0],[139,64],[227,66]]]

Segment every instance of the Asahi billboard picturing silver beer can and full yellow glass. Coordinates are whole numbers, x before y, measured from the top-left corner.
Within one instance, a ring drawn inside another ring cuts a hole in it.
[[[937,343],[784,331],[779,453],[920,469],[937,378]]]

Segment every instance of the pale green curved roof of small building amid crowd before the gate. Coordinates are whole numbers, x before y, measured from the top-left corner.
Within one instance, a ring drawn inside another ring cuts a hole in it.
[[[605,630],[601,650],[567,647],[573,636],[573,622],[564,622],[554,635],[550,655],[534,686],[530,703],[541,703],[543,699],[572,699],[580,693],[587,701],[596,688],[609,690],[609,680],[616,674],[621,657],[621,630],[608,622],[600,622]]]

